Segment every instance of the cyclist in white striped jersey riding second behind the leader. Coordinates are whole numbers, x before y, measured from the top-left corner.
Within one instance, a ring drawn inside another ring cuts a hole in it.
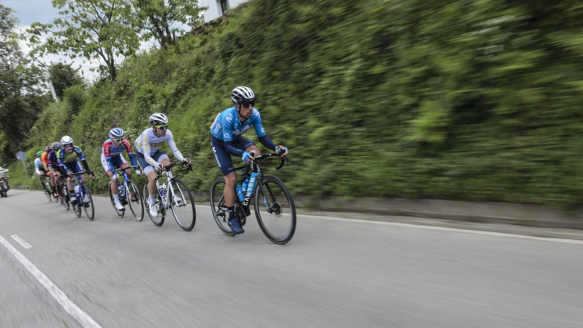
[[[138,139],[134,142],[134,146],[138,164],[149,180],[147,190],[149,193],[148,203],[150,205],[150,215],[156,217],[158,215],[155,206],[156,197],[154,197],[154,192],[156,191],[156,171],[161,171],[163,170],[163,165],[170,164],[170,158],[158,148],[164,142],[168,142],[170,150],[174,153],[176,159],[186,165],[189,165],[191,161],[188,158],[184,158],[178,150],[172,132],[168,130],[168,117],[166,115],[154,113],[150,116],[148,122],[152,127],[147,128],[139,135]]]

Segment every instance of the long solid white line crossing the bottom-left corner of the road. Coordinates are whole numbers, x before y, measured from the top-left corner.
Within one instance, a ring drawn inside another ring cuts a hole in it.
[[[0,243],[8,249],[16,259],[43,285],[44,288],[47,289],[49,294],[51,294],[52,298],[54,298],[61,306],[65,309],[66,312],[69,313],[75,320],[81,324],[82,327],[91,327],[91,328],[101,328],[99,323],[95,322],[87,313],[83,312],[82,309],[79,308],[75,303],[71,301],[65,295],[63,291],[57,285],[55,285],[44,273],[42,273],[38,268],[31,263],[23,254],[18,252],[18,250],[10,245],[8,240],[0,235]]]

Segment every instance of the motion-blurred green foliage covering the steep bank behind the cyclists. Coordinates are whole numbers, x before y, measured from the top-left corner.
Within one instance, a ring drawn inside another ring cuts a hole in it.
[[[127,58],[115,81],[65,88],[26,145],[32,155],[71,135],[104,191],[108,129],[133,142],[163,111],[195,160],[194,174],[179,176],[206,193],[220,175],[210,125],[246,85],[268,135],[289,147],[293,166],[276,174],[296,195],[574,207],[583,196],[581,32],[573,0],[252,0],[167,49]]]

